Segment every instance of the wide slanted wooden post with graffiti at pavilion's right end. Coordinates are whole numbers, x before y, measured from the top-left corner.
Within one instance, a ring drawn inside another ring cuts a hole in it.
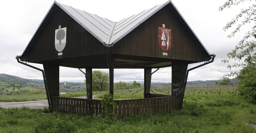
[[[172,95],[178,96],[178,105],[176,109],[180,109],[180,102],[184,91],[184,83],[188,64],[179,64],[172,62]]]

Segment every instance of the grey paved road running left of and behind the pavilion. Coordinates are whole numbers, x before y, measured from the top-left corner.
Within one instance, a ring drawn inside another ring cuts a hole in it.
[[[94,98],[96,95],[92,95]],[[86,96],[80,96],[76,98],[86,98]],[[21,102],[0,102],[0,107],[11,108],[11,107],[30,107],[30,109],[44,109],[44,107],[49,107],[47,100],[40,101],[21,101]]]

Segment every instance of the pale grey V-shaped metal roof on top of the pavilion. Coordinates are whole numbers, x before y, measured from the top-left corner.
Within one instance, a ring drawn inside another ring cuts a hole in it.
[[[88,32],[90,32],[90,34],[92,34],[95,38],[97,38],[100,42],[102,42],[102,44],[106,47],[114,46],[116,42],[118,42],[120,39],[122,39],[132,30],[134,30],[137,26],[142,24],[142,22],[146,21],[148,18],[150,18],[152,15],[154,15],[156,12],[158,12],[167,4],[170,4],[172,6],[171,8],[173,9],[174,14],[177,14],[177,17],[180,20],[180,23],[184,26],[184,28],[188,29],[188,31],[190,32],[190,35],[192,35],[192,37],[195,38],[195,40],[198,41],[202,45],[202,47],[206,50],[202,42],[200,42],[196,34],[193,32],[193,30],[184,20],[184,18],[182,17],[180,12],[177,10],[177,8],[174,6],[171,0],[169,0],[166,3],[160,4],[158,6],[154,6],[153,8],[150,8],[148,10],[144,10],[139,14],[135,14],[133,16],[130,16],[129,18],[125,18],[118,22],[108,20],[107,18],[102,18],[95,14],[90,14],[88,12],[73,8],[71,6],[60,4],[56,1],[54,1],[54,3],[52,4],[50,10],[54,6],[54,4],[58,5],[62,10],[64,10],[64,12],[66,12],[70,17],[72,17],[76,22],[78,22],[78,24],[80,24],[83,28],[85,28]],[[50,10],[48,11],[48,13],[50,12]],[[48,13],[42,20],[41,24],[46,19]],[[27,46],[27,48],[28,47],[29,45]],[[210,56],[207,50],[206,52]]]

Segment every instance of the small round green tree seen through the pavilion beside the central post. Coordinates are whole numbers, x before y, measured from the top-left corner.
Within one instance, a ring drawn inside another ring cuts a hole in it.
[[[92,71],[92,90],[103,91],[109,89],[109,74],[104,71]]]

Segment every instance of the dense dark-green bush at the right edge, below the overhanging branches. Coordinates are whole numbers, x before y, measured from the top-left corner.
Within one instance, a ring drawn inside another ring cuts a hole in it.
[[[244,67],[238,76],[238,91],[249,101],[256,104],[256,66]]]

